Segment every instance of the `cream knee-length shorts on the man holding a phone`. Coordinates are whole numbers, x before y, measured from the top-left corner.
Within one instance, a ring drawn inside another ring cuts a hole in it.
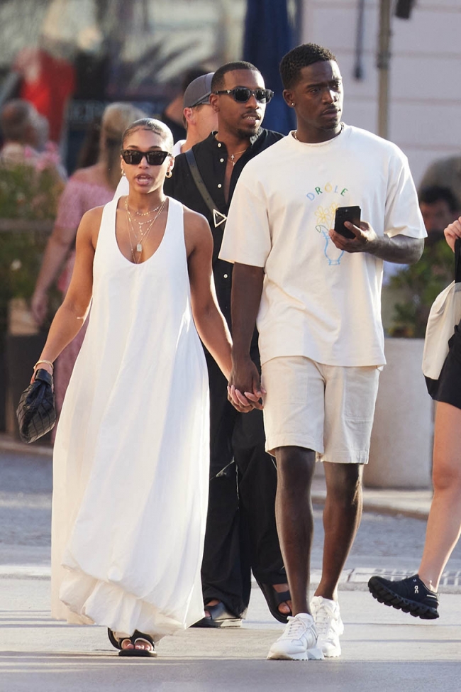
[[[318,461],[367,463],[378,366],[326,366],[304,356],[262,366],[266,449],[313,449]]]

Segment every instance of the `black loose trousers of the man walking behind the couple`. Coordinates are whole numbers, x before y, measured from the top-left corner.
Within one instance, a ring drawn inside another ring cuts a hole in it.
[[[251,571],[257,581],[287,581],[275,524],[277,469],[264,449],[262,412],[242,414],[227,400],[227,383],[207,354],[210,380],[209,509],[201,579],[204,603],[217,598],[245,615]]]

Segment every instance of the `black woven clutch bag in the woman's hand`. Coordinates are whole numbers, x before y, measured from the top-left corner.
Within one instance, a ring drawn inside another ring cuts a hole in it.
[[[52,391],[52,375],[47,370],[37,370],[35,380],[21,394],[16,417],[23,442],[35,442],[54,426],[55,395]]]

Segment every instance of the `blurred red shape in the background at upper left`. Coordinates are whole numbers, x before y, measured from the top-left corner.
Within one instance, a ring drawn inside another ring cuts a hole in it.
[[[39,48],[26,48],[18,55],[14,69],[22,77],[19,96],[48,119],[50,139],[59,142],[67,99],[75,89],[72,63]]]

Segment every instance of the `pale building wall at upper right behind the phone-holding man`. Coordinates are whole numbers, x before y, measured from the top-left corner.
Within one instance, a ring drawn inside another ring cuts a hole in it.
[[[344,120],[377,133],[379,0],[365,0],[363,79],[354,77],[358,0],[304,0],[303,42],[330,48],[345,89]],[[461,154],[461,0],[416,0],[392,17],[389,139],[416,185],[436,158]]]

